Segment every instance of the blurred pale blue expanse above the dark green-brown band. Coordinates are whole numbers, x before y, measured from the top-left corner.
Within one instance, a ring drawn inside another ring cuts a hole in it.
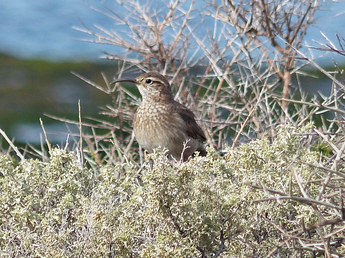
[[[100,0],[85,2],[102,8]],[[116,52],[114,47],[108,45],[75,39],[86,37],[86,34],[72,29],[72,26],[81,27],[80,20],[90,26],[99,24],[105,28],[112,28],[110,18],[92,10],[85,2],[79,0],[0,0],[0,52],[22,58],[89,61],[98,60],[102,55],[101,51]],[[102,2],[109,7],[116,7],[116,1]],[[147,1],[142,2],[147,3]],[[158,3],[158,6],[159,2],[150,1],[153,4]],[[325,10],[317,12],[316,20],[319,23],[309,28],[305,44],[317,46],[313,43],[313,39],[326,43],[320,31],[333,43],[337,43],[336,32],[345,37],[344,2],[344,0],[327,1],[323,7]],[[329,55],[321,59],[321,62],[331,63],[334,56]],[[339,61],[342,62],[342,60]]]

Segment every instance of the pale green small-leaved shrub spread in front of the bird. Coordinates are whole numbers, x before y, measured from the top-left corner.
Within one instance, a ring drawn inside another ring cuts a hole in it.
[[[208,148],[207,157],[185,163],[157,151],[146,157],[152,169],[139,171],[117,164],[93,173],[61,149],[51,152],[49,163],[16,166],[2,156],[1,255],[312,257],[294,245],[298,238],[321,241],[314,225],[320,214],[332,219],[337,210],[309,200],[324,177],[303,164],[318,157],[302,145],[311,128],[279,126],[273,143],[256,140],[228,148],[224,157]],[[326,190],[322,199],[336,204],[336,198]]]

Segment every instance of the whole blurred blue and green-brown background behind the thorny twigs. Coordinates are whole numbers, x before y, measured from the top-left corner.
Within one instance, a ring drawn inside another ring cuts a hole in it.
[[[90,117],[97,116],[101,106],[111,104],[111,96],[70,73],[76,71],[100,84],[104,84],[101,71],[109,80],[116,74],[114,62],[99,56],[102,51],[119,53],[120,49],[77,40],[86,35],[72,28],[82,27],[82,23],[112,28],[110,18],[89,7],[104,10],[101,3],[121,11],[114,0],[0,0],[0,128],[10,138],[19,143],[39,143],[42,117],[47,131],[52,133],[50,140],[58,143],[76,128],[68,128],[45,113],[78,120],[79,99],[82,114]],[[327,43],[320,31],[336,45],[336,33],[345,37],[344,3],[327,1],[323,10],[316,13],[317,23],[309,27],[306,45],[318,47],[313,40]],[[159,7],[161,1],[150,4]],[[313,51],[314,56],[321,54]],[[317,62],[326,68],[333,65],[332,59],[345,64],[345,58],[336,54]],[[331,83],[324,78],[308,79],[305,84],[306,90],[322,90],[326,94],[331,89]]]

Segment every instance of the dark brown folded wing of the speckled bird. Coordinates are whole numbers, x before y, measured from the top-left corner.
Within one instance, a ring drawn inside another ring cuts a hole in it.
[[[206,136],[203,130],[195,121],[195,116],[193,112],[191,112],[187,107],[185,107],[184,105],[180,103],[176,105],[176,112],[179,114],[182,120],[186,123],[187,135],[194,139],[198,139],[201,142],[205,142]]]

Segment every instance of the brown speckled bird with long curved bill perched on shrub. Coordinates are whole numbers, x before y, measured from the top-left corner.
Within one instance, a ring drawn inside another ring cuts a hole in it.
[[[117,79],[112,83],[135,83],[142,96],[141,104],[135,113],[133,129],[137,142],[149,153],[152,149],[168,148],[168,154],[183,161],[198,151],[206,156],[205,134],[195,121],[195,116],[186,106],[174,100],[167,79],[155,72],[144,73],[136,79]]]

